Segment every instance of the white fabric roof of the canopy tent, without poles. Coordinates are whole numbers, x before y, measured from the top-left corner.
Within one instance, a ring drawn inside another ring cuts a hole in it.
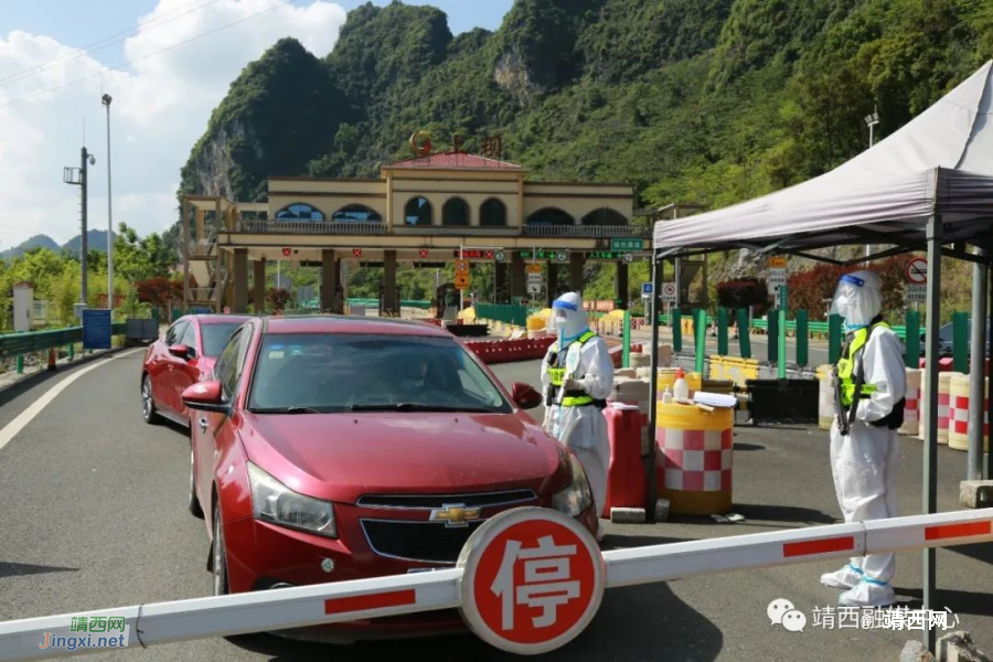
[[[831,172],[734,206],[655,224],[665,254],[840,244],[922,247],[940,214],[944,241],[993,228],[993,61],[904,128]]]

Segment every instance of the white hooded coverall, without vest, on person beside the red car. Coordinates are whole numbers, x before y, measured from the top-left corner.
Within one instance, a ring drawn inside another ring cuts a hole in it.
[[[586,312],[583,310],[583,299],[578,293],[563,295],[555,300],[552,309],[559,341],[548,348],[545,360],[542,361],[543,389],[547,389],[552,383],[548,375],[548,357],[552,351],[562,343],[558,348],[559,355],[567,355],[573,342],[589,330]],[[610,361],[607,343],[597,335],[587,340],[579,348],[579,364],[572,374],[572,381],[563,382],[564,386],[567,391],[585,391],[595,399],[607,399],[613,388],[613,363]],[[602,412],[594,405],[553,404],[545,409],[545,421],[542,427],[572,450],[583,465],[592,492],[594,508],[599,517],[607,500],[607,467],[610,462],[607,419]]]

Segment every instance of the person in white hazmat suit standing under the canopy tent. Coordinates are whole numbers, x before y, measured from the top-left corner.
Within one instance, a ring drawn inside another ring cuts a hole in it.
[[[882,281],[872,271],[841,278],[832,313],[845,319],[845,344],[834,373],[836,412],[831,426],[831,469],[845,522],[897,516],[897,428],[904,419],[907,378],[903,348],[879,314]],[[836,406],[837,408],[837,406]],[[821,576],[821,583],[845,589],[845,607],[884,607],[896,601],[890,554],[855,557]]]

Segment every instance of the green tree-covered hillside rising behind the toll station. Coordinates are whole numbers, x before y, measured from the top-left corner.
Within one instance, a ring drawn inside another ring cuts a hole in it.
[[[319,55],[285,39],[247,66],[181,192],[254,201],[268,175],[374,177],[424,128],[469,151],[501,135],[537,179],[724,206],[858,153],[874,107],[877,138],[927,108],[993,57],[993,3],[517,0],[496,32],[453,36],[441,11],[394,2],[352,11]]]

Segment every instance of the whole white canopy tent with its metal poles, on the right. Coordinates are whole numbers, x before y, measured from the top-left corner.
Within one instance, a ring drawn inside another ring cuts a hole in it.
[[[853,118],[853,121],[857,121]],[[790,189],[735,206],[654,227],[653,280],[659,310],[666,258],[714,250],[749,248],[836,261],[811,250],[842,244],[895,246],[871,259],[910,250],[928,252],[927,355],[938,355],[941,256],[976,263],[973,267],[972,319],[986,317],[989,260],[993,257],[993,61],[916,117],[899,131],[839,168]],[[976,250],[968,252],[968,245]],[[861,263],[853,259],[848,264]],[[842,264],[842,263],[837,263]],[[985,324],[973,323],[971,346],[985,346]],[[658,346],[658,319],[652,346]],[[974,352],[969,409],[967,477],[983,478],[983,353]],[[652,370],[658,370],[655,354]],[[928,361],[927,382],[938,383],[938,362]],[[654,380],[651,383],[655,399]],[[990,389],[993,391],[993,380]],[[925,394],[938,410],[933,386]],[[993,401],[991,401],[993,405]],[[654,437],[655,413],[649,435]],[[990,412],[993,419],[993,412]],[[923,512],[937,512],[938,418],[925,430]],[[976,473],[978,472],[978,473]],[[986,479],[993,479],[993,455]],[[650,476],[650,481],[653,477]],[[935,606],[937,564],[933,549],[923,556],[923,607]],[[935,632],[925,630],[935,650]]]

